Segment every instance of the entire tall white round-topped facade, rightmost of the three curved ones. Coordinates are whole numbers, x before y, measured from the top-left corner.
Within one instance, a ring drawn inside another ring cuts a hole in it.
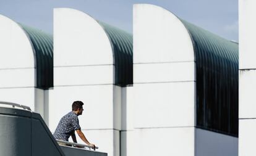
[[[171,12],[148,4],[134,5],[133,29],[133,153],[192,156],[195,62],[189,33]]]

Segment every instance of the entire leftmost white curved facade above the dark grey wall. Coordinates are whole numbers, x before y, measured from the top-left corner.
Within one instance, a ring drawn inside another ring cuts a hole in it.
[[[45,91],[36,88],[35,52],[22,27],[0,15],[1,101],[27,105],[45,116]]]

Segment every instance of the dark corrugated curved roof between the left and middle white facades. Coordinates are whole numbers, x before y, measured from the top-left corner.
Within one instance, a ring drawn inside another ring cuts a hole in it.
[[[53,87],[53,35],[20,24],[33,44],[36,67],[36,88]]]

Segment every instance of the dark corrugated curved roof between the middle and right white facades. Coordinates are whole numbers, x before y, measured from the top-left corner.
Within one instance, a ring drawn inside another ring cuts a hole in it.
[[[108,35],[114,54],[115,84],[133,84],[132,35],[119,28],[99,22]]]

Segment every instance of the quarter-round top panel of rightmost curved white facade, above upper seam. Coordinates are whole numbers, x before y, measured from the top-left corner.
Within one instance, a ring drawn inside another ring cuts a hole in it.
[[[181,20],[151,4],[134,4],[134,51],[135,64],[194,60],[192,40]]]

